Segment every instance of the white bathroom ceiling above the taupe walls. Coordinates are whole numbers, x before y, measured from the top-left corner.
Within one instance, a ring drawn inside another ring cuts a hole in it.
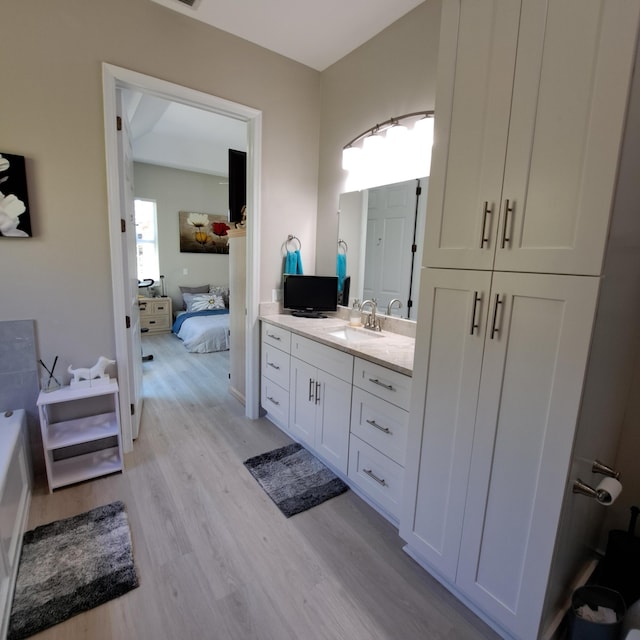
[[[324,71],[424,0],[152,2]]]

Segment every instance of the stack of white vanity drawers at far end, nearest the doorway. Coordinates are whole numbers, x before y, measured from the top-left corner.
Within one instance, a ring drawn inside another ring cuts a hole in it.
[[[262,323],[260,392],[262,408],[281,429],[289,429],[291,332]]]

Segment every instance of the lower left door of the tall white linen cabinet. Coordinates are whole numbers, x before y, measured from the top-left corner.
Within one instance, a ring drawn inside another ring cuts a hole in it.
[[[421,282],[400,535],[453,582],[491,273],[425,269]]]

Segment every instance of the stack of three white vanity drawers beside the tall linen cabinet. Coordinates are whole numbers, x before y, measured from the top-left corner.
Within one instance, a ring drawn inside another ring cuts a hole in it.
[[[349,480],[397,522],[402,504],[411,378],[355,359]]]

